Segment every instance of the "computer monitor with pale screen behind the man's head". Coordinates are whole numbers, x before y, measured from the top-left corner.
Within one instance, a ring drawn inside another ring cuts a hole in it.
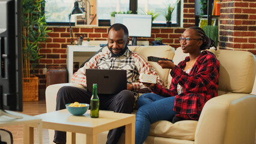
[[[122,23],[127,27],[133,46],[137,45],[137,37],[151,37],[150,14],[115,14],[115,23]]]

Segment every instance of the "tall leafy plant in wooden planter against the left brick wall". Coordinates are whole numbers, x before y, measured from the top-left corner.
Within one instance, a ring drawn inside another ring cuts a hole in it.
[[[41,11],[43,0],[22,0],[22,54],[23,54],[23,100],[38,100],[38,77],[35,67],[42,57],[40,43],[46,43],[46,17]],[[32,71],[31,71],[32,69]]]

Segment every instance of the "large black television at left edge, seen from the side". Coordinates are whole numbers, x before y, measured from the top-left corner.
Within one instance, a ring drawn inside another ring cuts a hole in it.
[[[0,115],[23,110],[21,1],[0,0]]]

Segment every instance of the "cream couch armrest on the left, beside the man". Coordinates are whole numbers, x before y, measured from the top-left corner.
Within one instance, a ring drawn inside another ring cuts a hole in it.
[[[56,110],[56,97],[59,89],[62,86],[75,86],[78,88],[84,88],[82,85],[78,85],[77,83],[60,83],[55,85],[49,85],[45,91],[46,97],[46,112],[53,112]]]

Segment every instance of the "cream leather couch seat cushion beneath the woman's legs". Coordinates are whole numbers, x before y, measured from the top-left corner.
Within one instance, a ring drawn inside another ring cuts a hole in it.
[[[195,140],[198,121],[185,120],[172,124],[169,121],[157,121],[151,124],[150,136],[169,137],[173,139]]]

